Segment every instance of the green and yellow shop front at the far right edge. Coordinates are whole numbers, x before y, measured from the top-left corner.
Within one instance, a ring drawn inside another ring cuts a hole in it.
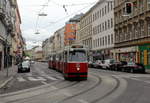
[[[140,63],[144,64],[146,69],[150,69],[150,44],[139,46]]]

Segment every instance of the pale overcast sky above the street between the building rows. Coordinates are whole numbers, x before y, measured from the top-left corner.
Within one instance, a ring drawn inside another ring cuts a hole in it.
[[[27,49],[41,45],[42,41],[53,35],[65,25],[69,18],[85,13],[98,0],[18,0],[22,24],[22,34],[26,39]],[[45,5],[43,7],[43,5]],[[66,5],[65,9],[63,5]],[[38,17],[45,13],[47,16]],[[37,25],[36,25],[37,24]],[[35,34],[37,30],[40,34]]]

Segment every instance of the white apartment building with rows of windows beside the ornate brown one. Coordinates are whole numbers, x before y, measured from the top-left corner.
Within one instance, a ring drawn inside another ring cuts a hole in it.
[[[113,58],[114,2],[100,0],[92,8],[92,50],[94,59]]]

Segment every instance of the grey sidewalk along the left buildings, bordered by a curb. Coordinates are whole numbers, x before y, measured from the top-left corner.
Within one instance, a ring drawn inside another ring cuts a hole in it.
[[[0,88],[3,88],[9,81],[13,79],[13,77],[17,73],[17,66],[12,65],[12,67],[8,68],[8,77],[7,75],[7,69],[3,69],[0,71]]]

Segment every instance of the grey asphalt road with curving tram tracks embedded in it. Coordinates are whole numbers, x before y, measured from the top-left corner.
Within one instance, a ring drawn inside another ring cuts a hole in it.
[[[35,63],[0,90],[0,103],[150,103],[150,74],[89,68],[87,81],[65,81]]]

